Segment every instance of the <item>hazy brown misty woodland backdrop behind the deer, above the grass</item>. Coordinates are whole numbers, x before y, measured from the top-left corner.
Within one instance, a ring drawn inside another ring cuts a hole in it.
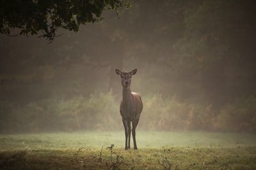
[[[138,130],[256,132],[255,1],[131,1],[52,43],[0,35],[0,132],[123,130],[120,76],[138,72]]]

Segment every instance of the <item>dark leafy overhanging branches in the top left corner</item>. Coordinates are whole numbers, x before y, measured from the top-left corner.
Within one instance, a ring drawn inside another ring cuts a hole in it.
[[[80,25],[102,20],[103,10],[115,10],[120,15],[130,6],[129,1],[123,0],[3,0],[0,32],[8,36],[36,34],[53,41],[60,28],[77,32]]]

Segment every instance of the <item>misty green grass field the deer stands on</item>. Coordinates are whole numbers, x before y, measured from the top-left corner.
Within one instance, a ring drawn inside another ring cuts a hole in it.
[[[256,135],[137,132],[0,134],[0,169],[256,169]],[[111,145],[114,145],[111,147]]]

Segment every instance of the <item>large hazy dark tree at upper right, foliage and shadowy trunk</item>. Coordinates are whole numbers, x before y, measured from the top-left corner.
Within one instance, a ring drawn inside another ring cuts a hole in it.
[[[201,87],[216,110],[226,93],[232,98],[254,91],[254,6],[253,0],[203,0],[184,13],[184,37],[175,45],[172,64],[180,74],[201,76]]]

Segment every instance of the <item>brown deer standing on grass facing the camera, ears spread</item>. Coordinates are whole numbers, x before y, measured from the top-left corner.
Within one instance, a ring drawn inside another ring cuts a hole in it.
[[[116,69],[116,74],[121,77],[122,84],[122,101],[120,103],[120,114],[122,116],[122,122],[124,124],[125,131],[125,150],[131,149],[131,132],[134,150],[138,150],[136,144],[136,127],[140,120],[141,111],[143,109],[143,103],[141,101],[140,94],[131,92],[131,78],[137,73],[137,69],[133,69],[131,72],[122,72]],[[132,123],[132,129],[131,129]]]

